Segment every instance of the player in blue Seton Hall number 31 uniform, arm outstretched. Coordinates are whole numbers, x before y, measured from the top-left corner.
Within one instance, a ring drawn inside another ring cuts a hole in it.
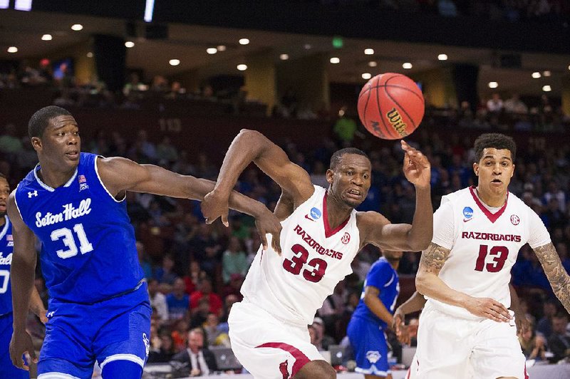
[[[27,368],[22,353],[35,358],[25,328],[35,234],[50,296],[38,378],[90,378],[95,361],[103,378],[140,378],[149,350],[151,308],[125,192],[202,199],[214,183],[122,157],[83,153],[76,120],[56,106],[34,113],[28,133],[39,164],[8,200],[14,228],[11,359]],[[262,233],[279,230],[261,203],[237,193],[231,202],[256,217]]]

